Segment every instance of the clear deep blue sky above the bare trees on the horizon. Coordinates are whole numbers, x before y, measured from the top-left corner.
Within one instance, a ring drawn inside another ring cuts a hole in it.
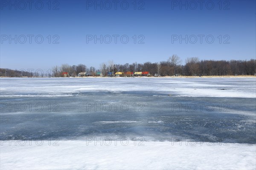
[[[256,58],[255,0],[0,2],[0,68]]]

